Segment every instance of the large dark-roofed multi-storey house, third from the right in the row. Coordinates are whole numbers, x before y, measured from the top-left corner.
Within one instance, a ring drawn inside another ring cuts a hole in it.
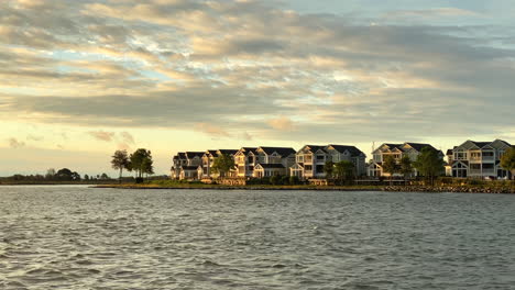
[[[327,161],[350,161],[354,164],[357,176],[366,172],[365,154],[349,145],[305,145],[296,153],[296,164],[289,168],[292,176],[300,179],[325,178],[324,166]]]

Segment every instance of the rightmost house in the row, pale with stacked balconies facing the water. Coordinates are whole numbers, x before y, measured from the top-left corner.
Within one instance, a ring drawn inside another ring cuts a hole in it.
[[[509,147],[502,140],[465,141],[449,152],[452,177],[511,178],[511,172],[501,167],[501,157]]]

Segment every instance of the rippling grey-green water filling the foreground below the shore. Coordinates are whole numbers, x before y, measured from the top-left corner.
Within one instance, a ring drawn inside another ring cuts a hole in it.
[[[0,289],[515,289],[515,196],[0,187]]]

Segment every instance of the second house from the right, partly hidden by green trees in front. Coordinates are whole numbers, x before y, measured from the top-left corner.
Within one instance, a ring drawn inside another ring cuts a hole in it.
[[[404,144],[384,143],[381,146],[379,146],[374,152],[372,152],[372,159],[369,161],[368,166],[368,176],[391,176],[391,174],[383,171],[383,161],[386,158],[386,156],[392,156],[397,163],[401,161],[401,159],[404,156],[408,156],[412,161],[415,161],[417,160],[417,157],[420,154],[421,149],[425,147],[429,147],[434,150],[437,150],[440,158],[443,159],[443,153],[441,150],[436,149],[430,144],[413,142],[406,142]],[[401,176],[401,174],[394,174],[393,176]],[[410,176],[418,176],[418,171],[414,168]]]

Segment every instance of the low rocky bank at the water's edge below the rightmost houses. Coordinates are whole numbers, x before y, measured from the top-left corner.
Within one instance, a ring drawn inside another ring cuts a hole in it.
[[[462,187],[462,186],[448,186],[448,187],[384,187],[383,191],[396,192],[456,192],[456,193],[515,193],[515,187]]]

